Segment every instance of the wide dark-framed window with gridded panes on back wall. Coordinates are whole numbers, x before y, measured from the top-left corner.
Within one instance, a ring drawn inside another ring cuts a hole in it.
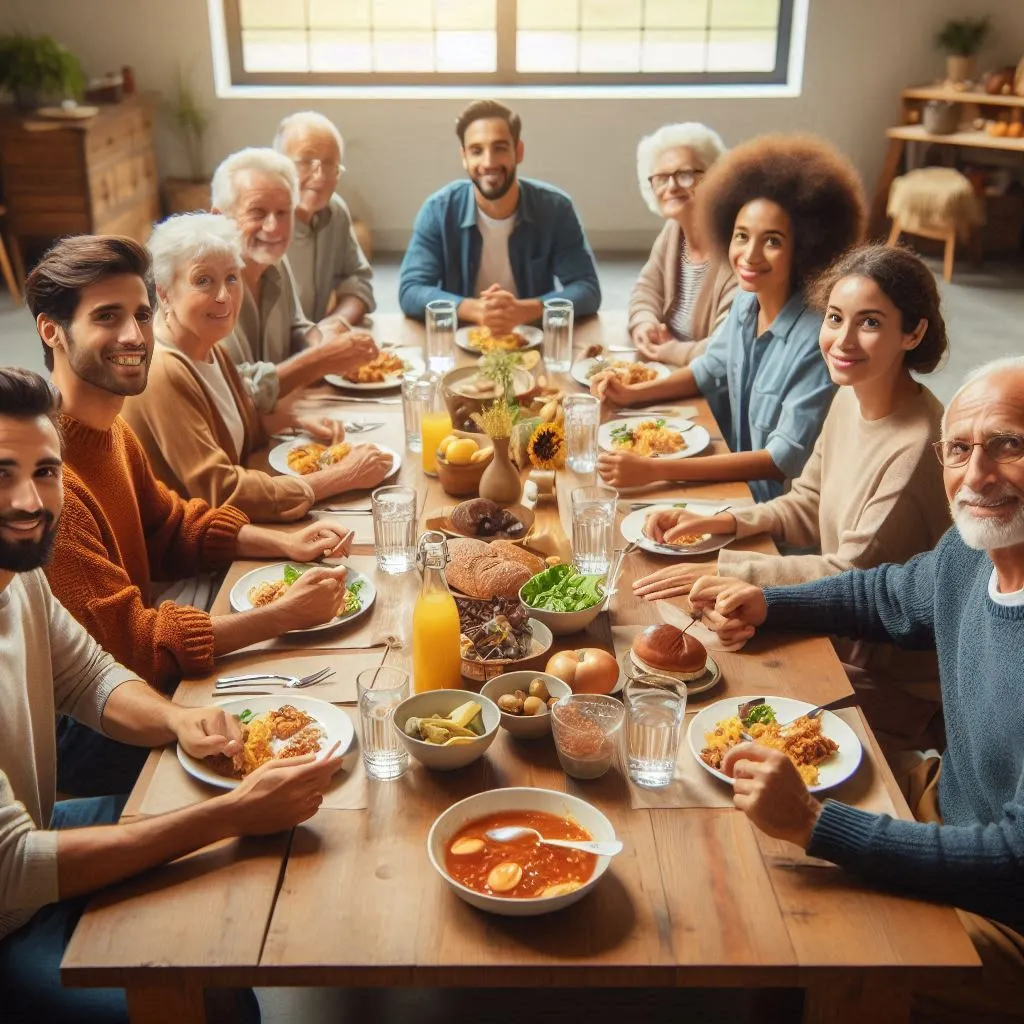
[[[231,83],[282,86],[783,84],[795,6],[795,0],[219,2]]]

